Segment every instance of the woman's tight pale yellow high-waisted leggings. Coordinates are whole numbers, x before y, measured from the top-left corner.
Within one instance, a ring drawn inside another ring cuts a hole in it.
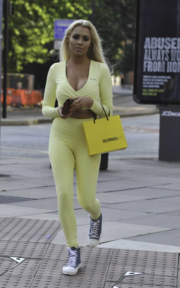
[[[77,200],[92,219],[100,217],[96,185],[101,155],[88,156],[83,122],[90,119],[54,118],[49,139],[49,158],[56,185],[59,219],[67,246],[78,247],[73,206],[73,172],[77,179]],[[94,139],[95,141],[95,139]]]

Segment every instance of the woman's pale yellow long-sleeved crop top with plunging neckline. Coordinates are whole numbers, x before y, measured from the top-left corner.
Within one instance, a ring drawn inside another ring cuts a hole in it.
[[[56,98],[58,106],[62,106],[68,98],[79,96],[90,97],[94,100],[90,108],[84,107],[83,109],[90,109],[104,118],[105,113],[102,104],[107,114],[109,114],[110,109],[110,116],[112,116],[112,80],[107,65],[91,60],[88,80],[84,87],[78,91],[75,91],[67,81],[66,61],[54,63],[50,67],[42,105],[43,115],[48,118],[59,116],[58,107],[54,108]]]

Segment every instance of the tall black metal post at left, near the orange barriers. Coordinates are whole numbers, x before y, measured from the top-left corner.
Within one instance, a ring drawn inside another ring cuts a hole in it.
[[[3,49],[3,118],[6,118],[7,54],[8,54],[9,0],[4,1],[4,49]]]

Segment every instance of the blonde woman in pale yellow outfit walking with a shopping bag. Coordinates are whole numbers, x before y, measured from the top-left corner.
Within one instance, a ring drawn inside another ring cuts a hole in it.
[[[55,100],[58,108],[54,108]],[[67,115],[63,103],[71,98]],[[49,139],[49,158],[58,198],[59,219],[64,232],[68,263],[64,274],[73,275],[81,266],[77,224],[73,207],[73,171],[77,179],[77,200],[90,213],[88,244],[96,247],[102,237],[101,204],[96,199],[96,185],[101,155],[88,156],[83,122],[93,112],[112,115],[112,81],[95,27],[86,20],[76,20],[65,32],[60,48],[60,62],[48,72],[42,113],[54,118]],[[96,141],[96,139],[94,139]]]

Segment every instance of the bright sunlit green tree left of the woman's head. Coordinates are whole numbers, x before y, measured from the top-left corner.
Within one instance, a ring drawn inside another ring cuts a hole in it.
[[[29,62],[45,63],[53,48],[55,19],[88,19],[86,1],[12,0],[15,13],[9,17],[9,71],[20,72]]]

